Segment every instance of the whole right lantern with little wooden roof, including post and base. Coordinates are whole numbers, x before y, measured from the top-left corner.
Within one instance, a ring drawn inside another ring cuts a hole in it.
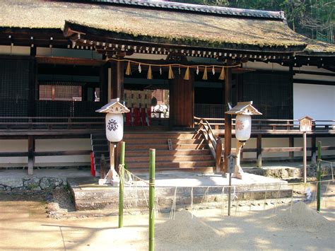
[[[252,106],[252,101],[249,102],[238,102],[235,107],[233,107],[228,112],[230,115],[236,115],[235,120],[235,137],[236,141],[236,168],[235,177],[242,179],[243,170],[240,166],[241,149],[245,145],[245,141],[250,139],[251,128],[252,128],[252,115],[261,115],[255,107]]]

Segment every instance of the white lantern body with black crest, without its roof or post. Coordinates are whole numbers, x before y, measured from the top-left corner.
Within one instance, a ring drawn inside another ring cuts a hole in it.
[[[123,115],[122,113],[106,114],[106,137],[110,142],[119,142],[123,138]]]

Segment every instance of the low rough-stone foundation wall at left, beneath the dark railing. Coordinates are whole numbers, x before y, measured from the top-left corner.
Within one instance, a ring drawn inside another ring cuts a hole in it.
[[[65,184],[66,181],[59,177],[2,177],[0,178],[0,191],[41,191],[59,189]]]

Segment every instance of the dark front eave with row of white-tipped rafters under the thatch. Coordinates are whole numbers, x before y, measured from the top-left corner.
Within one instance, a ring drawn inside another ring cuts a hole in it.
[[[86,25],[66,22],[64,36],[69,37],[74,45],[93,46],[100,53],[113,54],[119,51],[131,51],[146,54],[180,53],[188,57],[211,58],[254,58],[254,59],[288,59],[295,52],[302,51],[305,45],[291,47],[259,47],[257,45],[224,44],[221,47],[208,47],[205,42],[187,45],[178,40],[165,40],[160,37],[131,36],[115,33]]]

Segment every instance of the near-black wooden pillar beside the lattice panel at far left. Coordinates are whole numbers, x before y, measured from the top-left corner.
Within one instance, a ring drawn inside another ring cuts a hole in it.
[[[30,62],[29,62],[29,83],[28,83],[28,117],[35,117],[35,104],[36,104],[36,75],[37,75],[37,63],[36,63],[36,47],[30,47]]]

